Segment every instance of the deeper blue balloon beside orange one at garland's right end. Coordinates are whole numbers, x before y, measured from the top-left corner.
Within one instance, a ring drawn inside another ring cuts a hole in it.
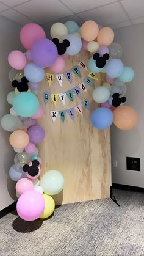
[[[90,122],[98,130],[104,130],[112,125],[113,113],[109,108],[97,108],[90,115]]]

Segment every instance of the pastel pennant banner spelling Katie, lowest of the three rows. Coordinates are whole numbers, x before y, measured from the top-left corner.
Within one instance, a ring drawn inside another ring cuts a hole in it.
[[[60,110],[60,111],[51,111],[51,117],[52,117],[53,123],[56,122],[58,115],[60,116],[60,120],[64,122],[66,114],[68,114],[71,117],[71,119],[74,121],[74,111],[82,115],[82,106],[90,110],[90,103],[88,102],[88,99],[83,100],[80,104],[78,104],[74,108]]]

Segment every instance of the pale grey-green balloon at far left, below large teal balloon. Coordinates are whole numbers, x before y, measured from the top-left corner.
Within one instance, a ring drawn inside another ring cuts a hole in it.
[[[14,115],[7,114],[1,119],[1,126],[5,131],[15,131],[21,126],[21,121],[18,117]]]

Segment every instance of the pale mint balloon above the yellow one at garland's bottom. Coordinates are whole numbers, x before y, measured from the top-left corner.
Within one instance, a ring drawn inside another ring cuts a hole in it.
[[[40,180],[40,186],[43,188],[45,194],[56,195],[62,191],[64,185],[64,178],[57,170],[49,170],[45,172]]]

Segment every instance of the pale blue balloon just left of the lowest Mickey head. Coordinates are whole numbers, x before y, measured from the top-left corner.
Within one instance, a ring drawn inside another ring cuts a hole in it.
[[[12,178],[12,180],[14,181],[18,181],[21,178],[26,178],[26,173],[23,172],[23,170],[20,169],[18,166],[16,166],[16,164],[13,164],[13,166],[10,167],[9,175],[10,178]]]

